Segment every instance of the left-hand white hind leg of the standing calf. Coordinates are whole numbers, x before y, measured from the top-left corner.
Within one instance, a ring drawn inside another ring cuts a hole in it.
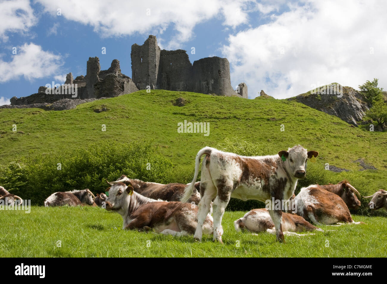
[[[204,172],[203,172],[204,173]],[[203,179],[202,173],[202,179]],[[212,183],[212,180],[200,182],[200,193],[202,199],[199,202],[199,210],[197,212],[197,226],[194,235],[194,239],[201,241],[202,240],[202,229],[204,220],[207,217],[207,214],[211,208],[211,201],[216,196],[216,187]]]

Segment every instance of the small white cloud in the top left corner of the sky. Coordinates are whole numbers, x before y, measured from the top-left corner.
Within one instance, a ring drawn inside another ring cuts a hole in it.
[[[8,40],[8,32],[25,33],[38,22],[29,0],[0,2],[0,19],[0,39],[3,41]]]

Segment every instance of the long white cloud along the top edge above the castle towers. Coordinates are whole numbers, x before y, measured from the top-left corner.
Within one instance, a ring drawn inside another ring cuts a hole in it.
[[[147,0],[147,1],[106,1],[106,0],[37,0],[53,17],[91,25],[102,37],[163,33],[172,27],[176,34],[166,46],[180,47],[193,35],[194,27],[213,17],[223,16],[224,25],[236,27],[247,21],[245,9],[251,0]],[[240,7],[239,14],[235,14]],[[57,16],[61,9],[61,16]]]

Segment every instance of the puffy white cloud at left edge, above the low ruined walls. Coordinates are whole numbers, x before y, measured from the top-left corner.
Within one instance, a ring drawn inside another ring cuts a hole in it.
[[[39,45],[25,43],[17,47],[17,54],[12,55],[10,62],[0,58],[0,83],[16,80],[21,76],[27,80],[44,78],[59,73],[62,65],[61,55],[44,51]]]

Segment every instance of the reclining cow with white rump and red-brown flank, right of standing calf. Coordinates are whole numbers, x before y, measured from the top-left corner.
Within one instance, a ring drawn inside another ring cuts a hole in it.
[[[293,212],[314,224],[335,224],[338,222],[361,224],[355,222],[345,202],[337,194],[329,192],[321,185],[303,187],[293,199]]]

